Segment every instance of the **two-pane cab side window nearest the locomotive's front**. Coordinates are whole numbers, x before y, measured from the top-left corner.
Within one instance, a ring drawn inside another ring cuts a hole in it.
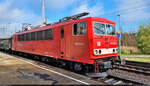
[[[73,35],[81,36],[86,33],[86,22],[80,22],[73,25]]]

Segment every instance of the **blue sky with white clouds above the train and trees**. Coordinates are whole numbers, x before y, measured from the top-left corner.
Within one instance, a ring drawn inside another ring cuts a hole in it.
[[[120,13],[123,31],[134,32],[150,20],[150,0],[45,0],[45,3],[49,23],[89,12],[89,16],[115,21],[118,28],[117,14]],[[21,29],[22,23],[41,24],[41,5],[42,0],[0,0],[0,27],[7,27],[6,33],[12,34]]]

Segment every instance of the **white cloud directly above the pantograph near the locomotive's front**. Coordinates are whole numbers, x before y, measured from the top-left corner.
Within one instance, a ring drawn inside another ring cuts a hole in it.
[[[94,6],[89,6],[89,3],[83,2],[81,5],[72,10],[72,14],[78,14],[82,12],[89,12],[89,16],[100,16],[104,14],[104,8],[102,3],[97,3]]]

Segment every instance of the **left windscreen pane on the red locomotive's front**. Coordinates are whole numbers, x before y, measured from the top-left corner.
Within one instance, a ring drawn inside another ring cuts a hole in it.
[[[105,31],[105,24],[101,24],[101,23],[94,23],[94,33],[97,35],[105,35],[106,31]]]

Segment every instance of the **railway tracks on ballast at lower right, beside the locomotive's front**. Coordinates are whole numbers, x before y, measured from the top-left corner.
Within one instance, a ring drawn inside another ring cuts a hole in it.
[[[150,63],[127,61],[108,71],[109,77],[122,79],[129,84],[150,85]]]

